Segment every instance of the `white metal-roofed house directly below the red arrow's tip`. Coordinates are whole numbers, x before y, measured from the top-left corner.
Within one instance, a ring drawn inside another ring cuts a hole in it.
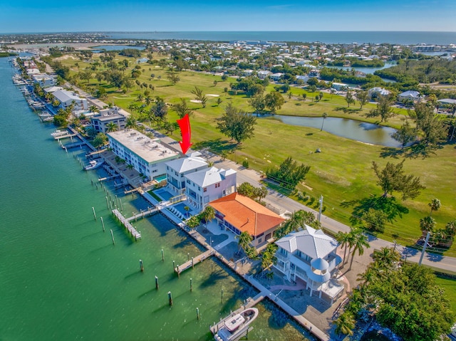
[[[207,162],[200,152],[190,154],[190,157],[182,157],[166,162],[167,187],[175,194],[183,194],[185,191],[185,176],[207,169]]]

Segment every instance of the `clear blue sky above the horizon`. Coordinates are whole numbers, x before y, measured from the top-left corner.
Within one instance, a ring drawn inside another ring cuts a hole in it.
[[[0,0],[0,33],[456,31],[455,0]]]

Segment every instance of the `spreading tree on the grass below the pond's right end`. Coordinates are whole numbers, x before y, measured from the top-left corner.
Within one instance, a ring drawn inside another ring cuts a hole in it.
[[[373,170],[378,177],[377,184],[383,190],[382,196],[384,198],[388,194],[393,194],[393,192],[400,192],[403,200],[408,198],[414,199],[420,194],[421,189],[426,188],[420,184],[419,177],[404,174],[404,161],[398,164],[388,162],[383,169],[379,169],[375,161],[372,162]]]

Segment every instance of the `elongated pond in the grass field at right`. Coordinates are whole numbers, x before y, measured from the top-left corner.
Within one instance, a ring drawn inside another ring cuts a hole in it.
[[[297,117],[274,115],[286,125],[300,125],[302,127],[314,127],[318,130],[323,125],[323,130],[333,135],[346,137],[350,140],[361,141],[371,145],[385,147],[401,147],[400,142],[391,137],[396,131],[391,127],[382,127],[373,123],[349,120],[339,117]]]

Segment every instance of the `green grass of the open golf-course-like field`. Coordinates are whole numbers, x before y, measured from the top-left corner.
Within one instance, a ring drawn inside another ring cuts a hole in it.
[[[119,57],[117,61],[122,59],[124,58]],[[130,60],[132,59],[130,58]],[[72,58],[62,59],[61,62],[70,66],[73,73],[88,66],[88,63],[78,61],[77,68],[76,60]],[[188,103],[189,107],[195,110],[190,119],[194,146],[210,147],[214,152],[227,150],[232,152],[229,154],[230,159],[239,163],[247,159],[249,167],[262,172],[265,172],[268,167],[280,164],[288,156],[310,165],[311,171],[305,182],[299,185],[299,191],[306,192],[314,198],[323,195],[324,214],[345,224],[351,225],[350,219],[353,214],[353,207],[347,205],[348,202],[368,198],[371,194],[381,194],[380,188],[375,184],[376,178],[372,162],[375,161],[380,167],[383,167],[386,162],[400,162],[403,159],[403,155],[398,149],[366,145],[314,128],[284,125],[274,117],[258,119],[254,138],[241,145],[236,145],[216,129],[216,119],[222,115],[226,103],[231,102],[236,107],[252,111],[245,95],[224,92],[224,88],[229,90],[229,84],[235,82],[234,78],[222,81],[218,75],[185,71],[179,73],[180,82],[172,85],[167,80],[166,69],[148,64],[142,64],[141,67],[143,72],[138,78],[140,82],[152,84],[155,90],[151,96],[160,96],[167,103],[177,103],[179,98],[185,98],[187,101],[194,99],[195,96],[191,91],[195,86],[202,88],[204,94],[219,95],[219,98],[222,99],[222,104],[217,105],[217,97],[208,97],[207,105],[204,108],[199,103]],[[130,70],[131,68],[125,70],[125,74],[130,73]],[[154,78],[150,78],[151,73],[154,73]],[[159,76],[161,79],[158,79]],[[214,80],[217,80],[217,85],[214,85]],[[86,82],[81,81],[79,85],[85,86]],[[95,79],[90,80],[88,85],[104,86],[108,90],[108,99],[105,102],[113,102],[125,109],[135,101],[141,92],[134,85],[130,91],[123,94],[118,89],[109,87],[104,81],[99,85]],[[274,85],[269,85],[266,91],[272,90],[273,87]],[[366,117],[363,116],[374,107],[373,104],[365,105],[363,110],[359,110],[358,103],[348,108],[343,97],[330,93],[325,93],[323,100],[316,103],[312,102],[311,98],[317,93],[306,92],[307,98],[304,101],[302,99],[304,91],[301,88],[292,87],[291,99],[284,95],[286,103],[277,113],[321,117],[323,112],[327,112],[329,116],[333,117],[375,122],[372,119],[366,120]],[[393,117],[390,122],[388,121],[388,125],[399,127],[405,118],[406,111],[395,110],[400,115]],[[168,119],[171,122],[175,121],[177,119],[175,112],[169,110]],[[172,137],[180,140],[180,132],[175,131]],[[402,217],[389,222],[385,233],[379,235],[380,238],[390,241],[395,239],[398,243],[413,245],[421,235],[420,219],[429,215],[428,203],[435,198],[440,199],[442,203],[439,211],[432,212],[432,217],[437,221],[437,229],[445,227],[448,221],[456,219],[455,147],[454,144],[445,145],[441,149],[437,149],[435,154],[431,154],[430,157],[405,160],[405,172],[420,177],[426,189],[417,198],[402,203],[408,209],[408,214],[403,214]],[[322,152],[311,153],[316,148],[320,148]],[[315,203],[311,206],[314,205]],[[456,247],[452,246],[445,254],[456,256]]]

